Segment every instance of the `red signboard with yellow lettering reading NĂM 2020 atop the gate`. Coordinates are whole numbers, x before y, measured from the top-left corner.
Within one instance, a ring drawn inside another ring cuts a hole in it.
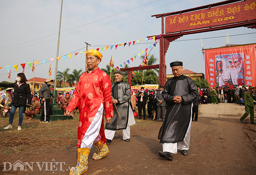
[[[165,17],[165,33],[221,26],[256,19],[256,1],[233,4]]]

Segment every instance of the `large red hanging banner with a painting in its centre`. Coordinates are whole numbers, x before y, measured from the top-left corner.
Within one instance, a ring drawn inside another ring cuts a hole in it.
[[[204,57],[211,87],[256,86],[255,45],[207,49]]]

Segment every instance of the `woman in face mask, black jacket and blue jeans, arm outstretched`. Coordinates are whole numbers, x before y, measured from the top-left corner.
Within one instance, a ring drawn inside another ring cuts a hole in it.
[[[27,83],[28,80],[24,73],[18,73],[17,78],[12,84],[0,83],[0,86],[6,88],[14,88],[13,100],[11,101],[11,111],[9,116],[9,125],[4,129],[12,129],[13,126],[13,118],[16,109],[19,108],[19,125],[18,131],[21,130],[21,125],[23,121],[23,112],[26,109],[26,106],[30,106],[32,104],[32,95],[30,92],[30,86]],[[28,99],[28,104],[27,104]]]

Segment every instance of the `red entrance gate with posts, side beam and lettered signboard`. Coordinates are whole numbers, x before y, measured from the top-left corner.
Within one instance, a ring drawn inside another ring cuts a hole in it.
[[[121,68],[122,71],[128,71],[128,83],[130,86],[132,70],[153,69],[152,67],[159,68],[158,84],[165,85],[165,54],[170,42],[183,35],[236,27],[256,28],[256,4],[254,0],[227,0],[183,11],[152,16],[161,18],[162,21],[160,64],[154,66]]]

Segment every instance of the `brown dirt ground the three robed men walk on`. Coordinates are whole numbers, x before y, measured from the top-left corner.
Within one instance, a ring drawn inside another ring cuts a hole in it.
[[[131,141],[124,142],[122,132],[117,131],[109,145],[109,155],[102,160],[92,159],[98,151],[93,146],[84,174],[256,174],[256,125],[250,124],[249,117],[241,124],[238,118],[200,117],[205,113],[199,112],[198,122],[192,122],[189,155],[178,152],[173,161],[161,158],[158,151],[162,145],[157,136],[162,122],[135,118]],[[1,175],[67,175],[69,167],[76,166],[78,115],[73,120],[51,124],[24,118],[21,131],[17,131],[17,115],[14,128],[4,130],[8,120],[0,118]],[[15,165],[21,168],[16,170]]]

